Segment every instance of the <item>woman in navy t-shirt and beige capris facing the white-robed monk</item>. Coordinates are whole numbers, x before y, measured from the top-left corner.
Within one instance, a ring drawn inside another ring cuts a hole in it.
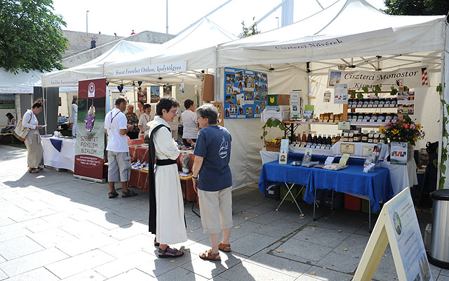
[[[231,251],[231,134],[226,128],[217,125],[218,110],[214,105],[198,107],[196,117],[201,130],[196,139],[192,178],[199,197],[201,224],[204,233],[209,233],[212,246],[212,249],[203,251],[199,256],[201,259],[220,261],[218,249]]]

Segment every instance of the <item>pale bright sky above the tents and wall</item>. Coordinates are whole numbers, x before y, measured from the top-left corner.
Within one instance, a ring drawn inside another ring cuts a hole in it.
[[[319,3],[318,3],[319,1]],[[337,0],[295,0],[293,22],[306,18],[335,3]],[[375,8],[384,9],[384,0],[367,0]],[[177,34],[196,20],[213,11],[227,0],[53,0],[54,13],[62,15],[67,27],[62,30],[88,32],[118,36],[129,36],[131,30],[166,33],[166,11],[168,2],[168,33]],[[223,29],[238,36],[243,25],[252,25],[267,15],[281,0],[232,0],[208,18]],[[276,18],[278,17],[278,18]],[[255,20],[253,20],[255,18]],[[257,30],[266,32],[281,26],[281,8],[267,16]]]

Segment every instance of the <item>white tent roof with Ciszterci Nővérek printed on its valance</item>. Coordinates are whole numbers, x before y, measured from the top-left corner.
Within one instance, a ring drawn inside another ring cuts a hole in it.
[[[387,15],[364,0],[339,0],[292,25],[221,44],[218,65],[442,51],[444,37],[444,15]]]

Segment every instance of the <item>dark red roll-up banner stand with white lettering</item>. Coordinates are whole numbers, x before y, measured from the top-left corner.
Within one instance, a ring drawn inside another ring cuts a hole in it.
[[[76,126],[76,178],[105,182],[106,78],[80,80]]]

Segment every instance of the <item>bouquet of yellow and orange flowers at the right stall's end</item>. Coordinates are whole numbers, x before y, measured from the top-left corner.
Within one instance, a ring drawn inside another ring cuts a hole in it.
[[[387,125],[381,126],[379,131],[384,133],[390,143],[408,143],[408,159],[413,157],[413,146],[416,145],[416,141],[426,136],[421,124],[415,124],[408,115],[404,115],[403,120],[396,123],[388,122]]]

